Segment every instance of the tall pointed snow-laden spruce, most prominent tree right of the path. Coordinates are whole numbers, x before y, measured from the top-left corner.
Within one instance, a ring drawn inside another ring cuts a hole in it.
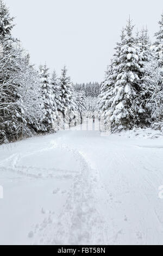
[[[117,129],[131,129],[139,123],[139,102],[136,96],[140,91],[142,56],[140,48],[135,45],[133,28],[129,19],[120,52],[114,60],[113,70],[116,74],[116,83],[115,97],[110,109],[110,120]]]

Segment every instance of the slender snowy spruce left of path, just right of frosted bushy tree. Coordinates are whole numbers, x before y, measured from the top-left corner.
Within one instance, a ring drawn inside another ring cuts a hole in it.
[[[56,105],[53,97],[52,84],[49,81],[48,68],[46,64],[40,66],[40,78],[45,109],[42,123],[45,125],[47,132],[52,132],[54,130],[55,122],[57,121],[55,113]]]

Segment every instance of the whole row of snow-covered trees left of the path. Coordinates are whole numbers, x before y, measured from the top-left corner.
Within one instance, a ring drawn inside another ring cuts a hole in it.
[[[39,70],[12,35],[14,18],[0,1],[0,144],[82,122],[85,94],[73,88],[66,66],[58,78]]]

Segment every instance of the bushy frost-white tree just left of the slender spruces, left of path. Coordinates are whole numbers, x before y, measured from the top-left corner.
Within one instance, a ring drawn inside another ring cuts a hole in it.
[[[37,132],[45,131],[42,124],[44,114],[44,101],[40,87],[39,72],[30,65],[29,54],[20,58],[20,88],[19,93],[22,98],[24,118],[27,120],[26,136],[36,135]]]

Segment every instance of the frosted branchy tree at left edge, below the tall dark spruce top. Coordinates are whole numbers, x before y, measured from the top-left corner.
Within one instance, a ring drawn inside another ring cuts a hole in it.
[[[22,137],[24,109],[20,89],[20,68],[18,63],[19,50],[11,47],[6,41],[3,44],[3,57],[0,62],[0,140],[10,142]]]

